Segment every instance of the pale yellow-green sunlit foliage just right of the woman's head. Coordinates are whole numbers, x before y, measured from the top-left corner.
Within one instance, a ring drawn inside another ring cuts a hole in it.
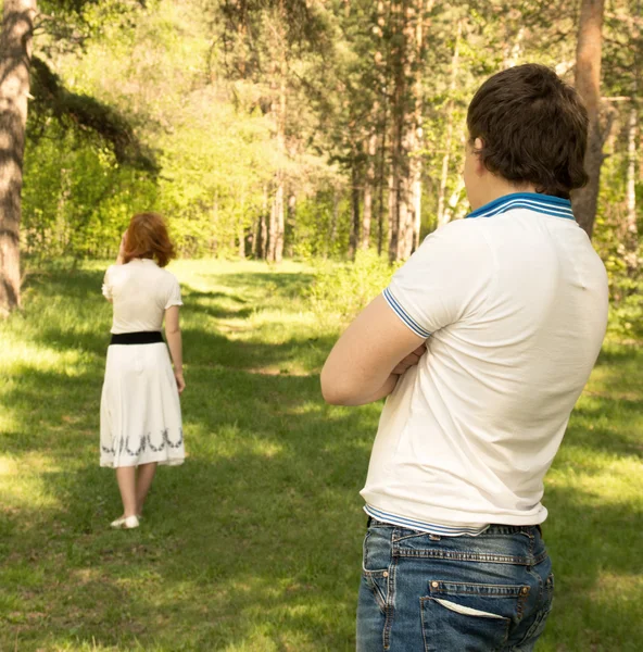
[[[162,140],[161,210],[185,254],[236,255],[276,165],[270,125],[261,112],[239,115],[207,90],[192,93],[184,112],[179,138]]]

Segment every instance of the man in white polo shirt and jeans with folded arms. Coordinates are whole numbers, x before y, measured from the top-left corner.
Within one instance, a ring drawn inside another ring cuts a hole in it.
[[[526,652],[551,610],[543,477],[607,319],[569,201],[588,117],[528,64],[480,87],[467,126],[474,211],[425,240],[322,373],[330,403],[389,397],[362,491],[360,652]]]

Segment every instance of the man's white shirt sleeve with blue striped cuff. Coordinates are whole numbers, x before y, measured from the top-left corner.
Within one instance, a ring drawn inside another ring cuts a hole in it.
[[[393,275],[383,298],[421,338],[471,315],[486,302],[494,276],[487,240],[469,221],[429,235]]]

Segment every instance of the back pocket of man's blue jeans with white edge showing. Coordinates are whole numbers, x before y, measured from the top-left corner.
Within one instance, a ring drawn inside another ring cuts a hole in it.
[[[528,594],[528,586],[429,581],[420,598],[425,651],[501,649]]]

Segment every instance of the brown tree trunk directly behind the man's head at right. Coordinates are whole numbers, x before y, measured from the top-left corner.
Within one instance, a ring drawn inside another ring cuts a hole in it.
[[[585,171],[590,177],[588,185],[573,193],[573,212],[579,225],[590,238],[594,229],[601,165],[603,164],[603,142],[606,128],[601,125],[601,49],[604,0],[582,0],[578,46],[576,50],[576,88],[582,98],[590,118]]]

